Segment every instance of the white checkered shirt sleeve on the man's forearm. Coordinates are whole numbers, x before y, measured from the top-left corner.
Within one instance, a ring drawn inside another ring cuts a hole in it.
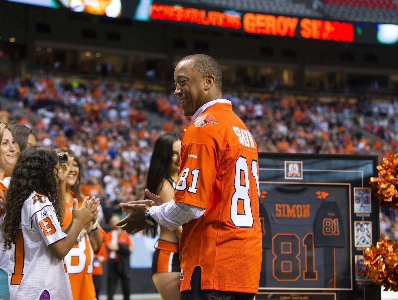
[[[174,200],[163,203],[160,206],[152,206],[149,210],[149,215],[169,230],[174,230],[193,219],[199,219],[206,209],[189,205],[186,203],[179,203]]]

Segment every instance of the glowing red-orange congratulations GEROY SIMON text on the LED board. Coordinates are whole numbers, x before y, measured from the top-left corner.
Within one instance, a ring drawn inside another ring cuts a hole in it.
[[[246,33],[303,37],[333,41],[354,41],[352,23],[327,21],[283,15],[219,12],[154,3],[150,6],[150,19],[193,23],[231,29],[243,29]]]

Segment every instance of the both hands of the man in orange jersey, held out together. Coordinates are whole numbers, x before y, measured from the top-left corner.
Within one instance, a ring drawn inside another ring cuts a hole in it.
[[[120,203],[120,207],[124,212],[129,213],[129,215],[117,222],[116,226],[120,226],[128,233],[136,233],[149,226],[144,218],[146,210],[148,207],[162,205],[164,201],[158,195],[149,192],[148,189],[145,190],[145,193],[150,199]]]

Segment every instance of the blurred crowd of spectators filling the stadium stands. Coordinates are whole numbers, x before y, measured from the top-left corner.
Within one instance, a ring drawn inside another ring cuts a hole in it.
[[[163,132],[183,134],[189,119],[170,92],[133,85],[32,74],[0,79],[0,119],[32,128],[39,143],[69,147],[79,157],[82,192],[100,197],[104,220],[119,202],[143,195],[154,142]],[[371,154],[398,152],[398,101],[298,101],[230,91],[259,152]]]

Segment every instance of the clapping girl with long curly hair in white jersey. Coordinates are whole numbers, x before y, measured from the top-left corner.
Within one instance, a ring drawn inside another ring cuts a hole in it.
[[[59,168],[57,153],[43,146],[22,151],[12,172],[2,224],[4,250],[11,249],[11,299],[72,299],[63,259],[83,226],[98,213],[98,199],[74,199],[72,221],[61,230],[64,199],[60,182],[71,161]],[[61,195],[61,196],[60,196]]]

